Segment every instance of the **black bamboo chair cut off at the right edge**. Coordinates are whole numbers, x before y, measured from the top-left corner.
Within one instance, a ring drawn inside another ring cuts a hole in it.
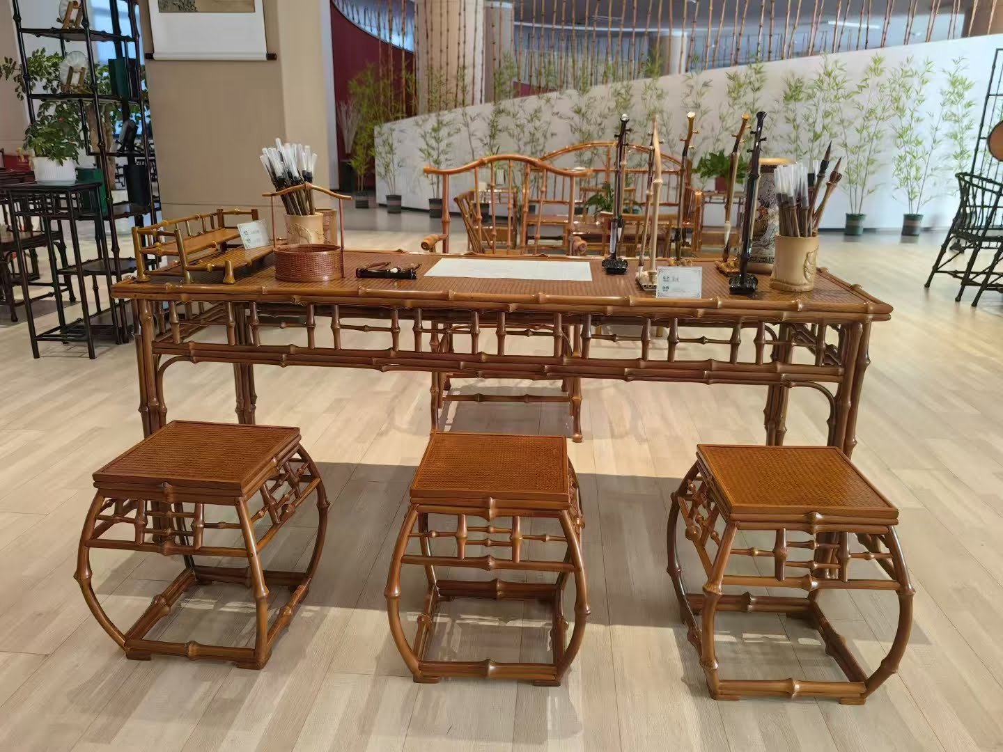
[[[934,275],[946,274],[961,280],[955,301],[961,300],[965,288],[979,288],[972,301],[972,305],[977,306],[986,290],[1003,292],[1003,284],[1000,283],[1003,273],[996,272],[1000,251],[1003,249],[1003,215],[999,213],[1003,200],[1003,182],[971,172],[959,172],[958,189],[961,196],[958,211],[930,270],[926,287],[930,287]],[[992,263],[976,269],[979,253],[983,249],[993,250]],[[951,263],[965,253],[968,253],[965,268],[962,270],[952,267]]]

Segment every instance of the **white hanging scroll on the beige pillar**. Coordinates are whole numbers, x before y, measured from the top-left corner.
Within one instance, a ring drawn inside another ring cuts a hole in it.
[[[149,0],[154,60],[264,60],[262,0]]]

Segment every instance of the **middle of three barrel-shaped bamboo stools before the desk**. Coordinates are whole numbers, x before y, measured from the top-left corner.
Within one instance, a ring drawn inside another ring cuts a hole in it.
[[[454,517],[455,529],[429,527],[429,514]],[[486,524],[468,524],[467,517],[480,517]],[[512,525],[492,524],[498,517],[511,517]],[[535,535],[524,532],[527,519],[558,519],[563,535]],[[415,531],[417,525],[417,531]],[[585,637],[589,616],[589,595],[582,560],[581,531],[585,525],[579,501],[575,470],[568,461],[563,436],[515,436],[483,433],[433,433],[421,464],[411,483],[411,503],[400,528],[387,576],[387,612],[390,632],[397,649],[414,675],[414,681],[434,684],[442,677],[481,679],[523,679],[546,687],[558,687],[578,653]],[[471,533],[479,533],[471,537]],[[492,535],[507,535],[495,538]],[[453,538],[453,555],[433,553],[431,541]],[[407,544],[417,538],[420,553],[408,553]],[[528,541],[564,543],[563,559],[528,559]],[[471,546],[487,553],[468,555]],[[495,557],[492,548],[509,548],[511,556]],[[400,622],[400,568],[417,565],[425,570],[428,590],[418,616],[413,645],[404,637]],[[494,579],[488,582],[439,580],[435,567],[458,567],[493,572],[557,573],[554,583],[514,583]],[[568,576],[575,576],[575,628],[565,644],[568,622],[564,619],[563,595]],[[552,663],[498,663],[484,661],[431,661],[425,656],[430,642],[435,612],[443,601],[453,598],[484,598],[494,601],[539,601],[553,612]]]

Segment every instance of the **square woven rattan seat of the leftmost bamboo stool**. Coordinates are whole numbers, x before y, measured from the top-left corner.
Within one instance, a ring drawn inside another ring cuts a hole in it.
[[[299,440],[299,428],[176,420],[95,472],[94,485],[253,490],[254,480]]]

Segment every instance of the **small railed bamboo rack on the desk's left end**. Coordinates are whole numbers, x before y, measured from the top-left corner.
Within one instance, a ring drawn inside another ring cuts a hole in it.
[[[258,219],[257,209],[218,209],[202,215],[178,220],[163,220],[144,228],[132,228],[135,251],[136,279],[145,282],[149,275],[177,274],[192,282],[192,272],[224,270],[224,282],[233,284],[234,271],[249,266],[271,253],[270,247],[237,253],[231,244],[241,237],[236,227],[227,224],[229,218]],[[259,253],[256,253],[259,252]],[[153,263],[147,267],[147,260]],[[160,266],[163,259],[176,259]]]

